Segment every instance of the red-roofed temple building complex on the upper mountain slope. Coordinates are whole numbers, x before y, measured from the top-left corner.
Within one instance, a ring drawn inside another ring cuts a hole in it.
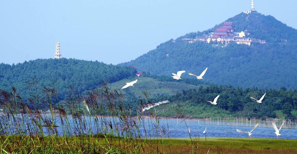
[[[234,32],[235,28],[231,22],[223,23],[223,25],[217,28],[214,32],[209,33],[209,35],[204,34],[203,36],[196,36],[195,39],[182,39],[184,41],[189,41],[193,43],[195,41],[203,41],[206,43],[214,42],[214,44],[229,44],[230,42],[236,42],[237,44],[251,45],[252,42],[257,42],[260,44],[265,44],[265,40],[254,39],[246,37],[249,35],[247,31]]]

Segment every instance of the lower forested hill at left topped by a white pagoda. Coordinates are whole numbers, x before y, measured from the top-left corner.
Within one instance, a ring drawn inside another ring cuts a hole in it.
[[[14,86],[21,97],[29,96],[27,81],[36,78],[39,89],[43,86],[58,88],[61,100],[69,94],[69,85],[79,92],[94,89],[102,82],[113,83],[128,77],[137,77],[136,70],[126,66],[106,65],[76,59],[38,59],[17,65],[0,64],[0,89]]]

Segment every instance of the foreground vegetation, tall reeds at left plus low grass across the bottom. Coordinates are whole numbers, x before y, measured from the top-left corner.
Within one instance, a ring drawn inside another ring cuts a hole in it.
[[[35,81],[32,81],[35,82]],[[36,88],[31,83],[32,89]],[[34,106],[23,103],[16,89],[0,90],[0,153],[296,153],[295,140],[199,138],[171,139],[168,127],[159,124],[156,108],[149,128],[143,113],[131,115],[120,91],[107,84],[80,94],[70,87],[69,97],[58,103],[57,91],[43,87],[41,93],[31,91],[27,98]],[[203,91],[203,89],[200,89]],[[147,91],[142,91],[140,105],[150,104]],[[84,103],[83,103],[84,102]],[[47,104],[44,114],[35,108]],[[54,105],[56,104],[56,105]],[[84,105],[83,105],[84,104]],[[69,115],[67,115],[69,114]],[[104,117],[102,115],[109,115]],[[183,111],[182,124],[187,126]],[[188,127],[188,126],[187,126]],[[145,132],[145,133],[144,133]],[[153,135],[148,135],[153,134]]]

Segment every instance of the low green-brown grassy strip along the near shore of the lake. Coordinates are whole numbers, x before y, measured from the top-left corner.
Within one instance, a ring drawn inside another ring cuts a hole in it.
[[[294,139],[255,139],[255,138],[196,138],[198,149],[193,150],[194,146],[191,144],[190,139],[127,139],[127,138],[111,138],[108,144],[104,136],[93,137],[92,142],[86,142],[87,136],[80,139],[75,137],[68,137],[69,143],[64,142],[65,138],[57,137],[53,140],[51,137],[44,137],[42,144],[37,143],[37,138],[22,138],[9,137],[10,140],[26,141],[26,144],[21,146],[17,142],[12,143],[12,148],[6,148],[7,151],[12,153],[30,151],[32,147],[38,149],[35,152],[42,153],[297,153],[296,140]],[[40,140],[38,140],[40,141]],[[54,143],[54,142],[56,143]],[[36,145],[33,143],[35,142]],[[125,146],[122,146],[124,145]],[[41,146],[41,145],[48,145]],[[89,148],[88,148],[89,147]],[[3,149],[3,148],[2,148]],[[136,149],[136,150],[135,150]],[[4,150],[4,149],[3,149]],[[6,151],[5,150],[5,151]],[[3,151],[2,151],[3,152]]]

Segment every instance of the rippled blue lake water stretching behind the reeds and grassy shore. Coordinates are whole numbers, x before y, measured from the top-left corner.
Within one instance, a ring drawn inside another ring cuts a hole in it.
[[[49,115],[42,115],[43,118],[51,118]],[[19,117],[20,121],[24,118]],[[133,137],[138,137],[138,134],[142,134],[142,137],[154,138],[154,137],[169,137],[170,138],[189,138],[189,132],[186,124],[190,128],[191,137],[200,137],[204,138],[205,134],[203,131],[206,129],[207,137],[249,137],[246,133],[237,132],[236,129],[241,129],[242,131],[251,131],[253,127],[247,126],[217,126],[217,125],[204,125],[203,121],[194,121],[194,120],[186,120],[181,122],[179,119],[178,122],[176,119],[159,119],[159,125],[156,123],[155,119],[144,118],[143,120],[128,119],[129,124],[122,123],[119,118],[100,118],[100,117],[82,117],[82,118],[73,118],[72,116],[67,116],[67,121],[64,127],[61,125],[61,121],[59,118],[55,118],[55,124],[59,127],[56,127],[59,135],[73,135],[73,134],[88,134],[92,132],[92,134],[102,133],[102,132],[110,132],[110,126],[113,127],[114,131],[119,132],[119,135],[125,135],[127,131],[123,131],[124,129],[129,128],[129,132],[131,132]],[[82,121],[81,121],[82,119]],[[85,120],[83,120],[85,119]],[[15,126],[13,121],[8,121],[7,119],[0,119],[2,126],[9,126],[5,129],[5,132],[1,131],[1,134],[28,134],[28,126],[31,125],[30,133],[36,134],[40,130],[38,127],[32,125],[32,121],[34,120],[25,120],[23,121],[24,127],[19,128],[19,125]],[[36,119],[35,119],[36,121]],[[64,121],[65,123],[65,121]],[[44,123],[43,123],[44,124]],[[137,127],[135,127],[135,125]],[[254,126],[254,124],[252,124]],[[35,128],[35,129],[34,129]],[[137,128],[137,129],[136,129]],[[157,131],[156,131],[157,128]],[[42,127],[45,135],[55,134],[55,131],[50,130],[48,127]],[[64,131],[63,131],[64,130]],[[274,133],[273,128],[263,128],[257,127],[252,132],[253,138],[277,138]],[[280,138],[282,139],[297,139],[297,129],[281,129],[280,130]]]

